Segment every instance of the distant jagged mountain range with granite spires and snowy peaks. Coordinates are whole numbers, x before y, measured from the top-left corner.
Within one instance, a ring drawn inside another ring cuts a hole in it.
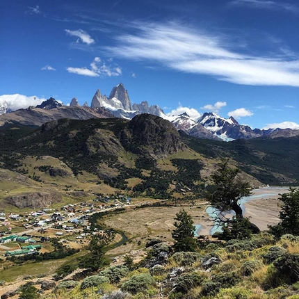
[[[40,126],[45,122],[60,118],[86,120],[88,118],[109,118],[114,116],[115,118],[130,120],[138,114],[149,113],[169,120],[177,130],[182,130],[186,134],[197,138],[232,141],[266,136],[277,138],[299,135],[299,130],[252,129],[247,125],[239,124],[232,116],[228,119],[222,118],[213,112],[204,113],[197,119],[191,118],[187,113],[177,116],[166,115],[159,106],[149,106],[146,101],[140,104],[132,104],[129,92],[122,83],[113,87],[108,97],[102,95],[98,89],[92,97],[90,107],[88,107],[87,102],[80,106],[76,97],[72,99],[70,106],[63,106],[54,98],[50,98],[36,107],[31,106],[27,109],[8,112],[10,111],[7,110],[6,103],[2,103],[0,105],[0,126],[10,123]]]

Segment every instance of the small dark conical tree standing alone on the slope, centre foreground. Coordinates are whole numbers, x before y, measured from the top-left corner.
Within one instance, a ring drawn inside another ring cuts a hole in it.
[[[172,232],[172,238],[175,239],[173,248],[175,251],[195,251],[197,245],[194,239],[195,226],[193,220],[188,213],[182,209],[176,214],[175,227]]]

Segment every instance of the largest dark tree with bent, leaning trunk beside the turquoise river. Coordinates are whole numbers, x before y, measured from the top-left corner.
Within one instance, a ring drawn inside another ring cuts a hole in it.
[[[213,185],[206,193],[207,200],[218,212],[214,221],[219,226],[229,227],[232,219],[226,218],[225,214],[234,211],[234,227],[236,222],[242,223],[242,226],[248,223],[252,232],[259,232],[256,225],[244,218],[239,202],[241,197],[252,194],[250,184],[241,177],[239,168],[230,168],[228,163],[229,159],[222,159],[218,170],[211,175]]]

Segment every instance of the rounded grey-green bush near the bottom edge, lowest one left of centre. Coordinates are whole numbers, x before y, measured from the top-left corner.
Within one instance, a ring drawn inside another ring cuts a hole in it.
[[[124,282],[121,286],[122,291],[128,291],[132,294],[136,294],[139,292],[144,293],[149,286],[154,286],[156,284],[156,281],[154,278],[146,273],[139,274],[139,275],[133,275]]]

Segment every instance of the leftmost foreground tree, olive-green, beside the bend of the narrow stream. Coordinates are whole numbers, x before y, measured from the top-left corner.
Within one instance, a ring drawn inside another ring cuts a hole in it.
[[[92,236],[87,247],[90,252],[81,259],[79,267],[91,268],[91,270],[96,271],[108,264],[107,260],[104,258],[104,247],[107,245],[108,241],[108,236],[99,234]]]

